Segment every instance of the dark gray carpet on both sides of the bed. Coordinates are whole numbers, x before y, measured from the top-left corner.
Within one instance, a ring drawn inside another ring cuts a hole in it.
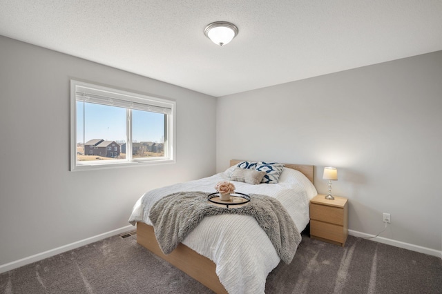
[[[135,237],[3,273],[0,293],[212,293]],[[267,277],[266,293],[442,293],[442,259],[352,236],[342,248],[302,235],[293,262]]]

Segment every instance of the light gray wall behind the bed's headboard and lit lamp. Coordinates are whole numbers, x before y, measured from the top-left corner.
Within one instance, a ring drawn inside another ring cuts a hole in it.
[[[217,99],[217,168],[229,159],[338,168],[349,228],[441,251],[442,51]],[[437,252],[436,252],[437,253]]]

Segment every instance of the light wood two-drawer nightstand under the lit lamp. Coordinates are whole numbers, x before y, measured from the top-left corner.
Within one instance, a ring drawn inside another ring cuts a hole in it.
[[[310,237],[344,246],[348,235],[348,199],[319,194],[310,200]]]

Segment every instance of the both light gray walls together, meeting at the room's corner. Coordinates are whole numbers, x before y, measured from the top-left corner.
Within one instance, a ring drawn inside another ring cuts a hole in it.
[[[177,163],[70,172],[70,79],[175,99]],[[351,230],[391,213],[382,236],[441,251],[441,81],[434,52],[214,99],[0,36],[0,266],[127,226],[146,190],[235,158],[314,164],[320,193],[336,166]]]

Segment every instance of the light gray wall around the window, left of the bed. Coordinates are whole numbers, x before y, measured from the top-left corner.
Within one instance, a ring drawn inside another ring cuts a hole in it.
[[[176,164],[70,172],[71,78],[177,101]],[[0,266],[128,226],[142,193],[215,173],[214,97],[1,36],[0,95]]]

